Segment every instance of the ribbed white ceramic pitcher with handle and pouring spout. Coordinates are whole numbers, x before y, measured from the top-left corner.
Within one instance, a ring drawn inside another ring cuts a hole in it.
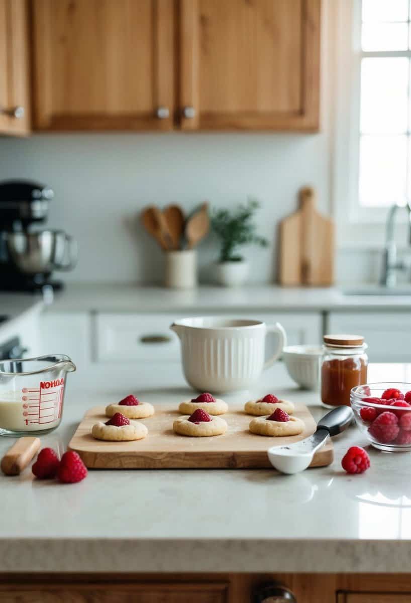
[[[200,317],[176,320],[170,328],[181,340],[187,382],[196,390],[211,393],[248,389],[287,345],[280,323]],[[265,362],[266,333],[277,333],[279,342],[275,354]]]

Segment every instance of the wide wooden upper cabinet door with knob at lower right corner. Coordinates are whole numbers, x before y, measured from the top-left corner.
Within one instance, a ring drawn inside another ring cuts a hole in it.
[[[34,0],[35,127],[168,130],[172,0]]]

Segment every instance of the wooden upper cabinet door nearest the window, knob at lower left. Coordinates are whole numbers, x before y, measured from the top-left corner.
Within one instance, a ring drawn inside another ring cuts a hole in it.
[[[317,130],[320,0],[180,0],[181,127]]]

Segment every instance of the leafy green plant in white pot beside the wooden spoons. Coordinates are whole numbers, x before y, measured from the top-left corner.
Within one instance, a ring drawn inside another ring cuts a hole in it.
[[[243,245],[266,247],[267,240],[257,235],[254,215],[260,207],[258,201],[249,199],[245,205],[233,210],[215,209],[212,213],[212,231],[220,239],[217,280],[221,285],[243,285],[248,277],[248,262],[238,253]]]

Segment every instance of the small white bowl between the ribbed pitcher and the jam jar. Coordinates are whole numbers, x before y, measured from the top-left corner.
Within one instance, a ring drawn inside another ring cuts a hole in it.
[[[289,376],[304,390],[319,390],[321,346],[286,346],[283,359]]]

